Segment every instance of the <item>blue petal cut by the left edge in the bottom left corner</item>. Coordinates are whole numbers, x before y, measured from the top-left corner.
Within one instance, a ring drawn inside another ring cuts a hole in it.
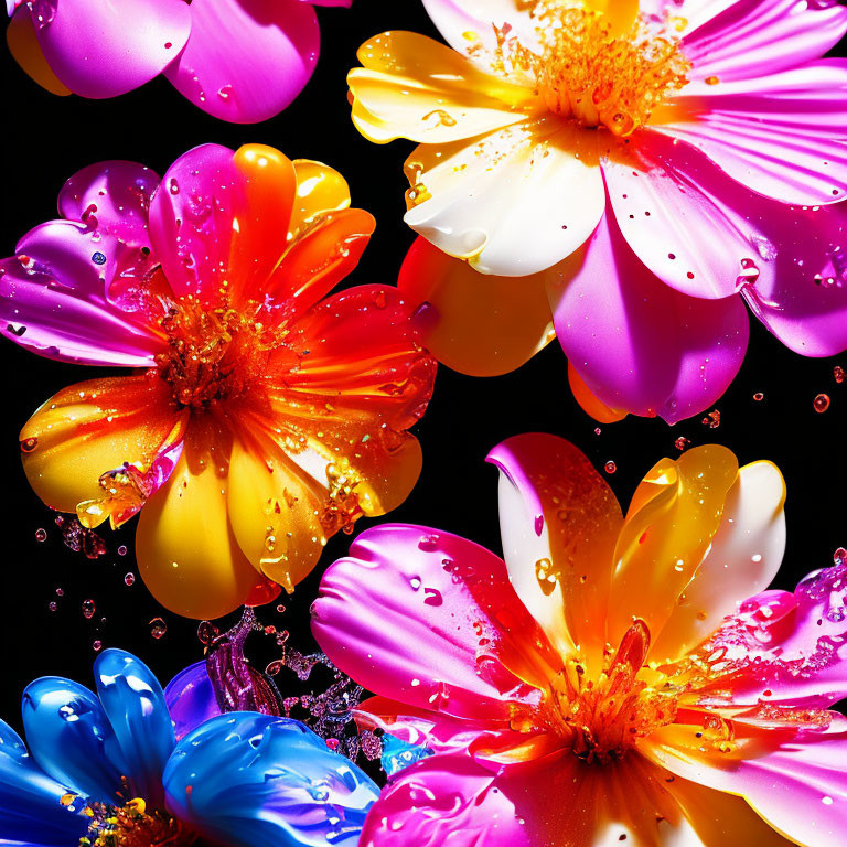
[[[73,847],[86,830],[84,798],[63,806],[68,790],[43,773],[14,730],[0,720],[0,844]]]

